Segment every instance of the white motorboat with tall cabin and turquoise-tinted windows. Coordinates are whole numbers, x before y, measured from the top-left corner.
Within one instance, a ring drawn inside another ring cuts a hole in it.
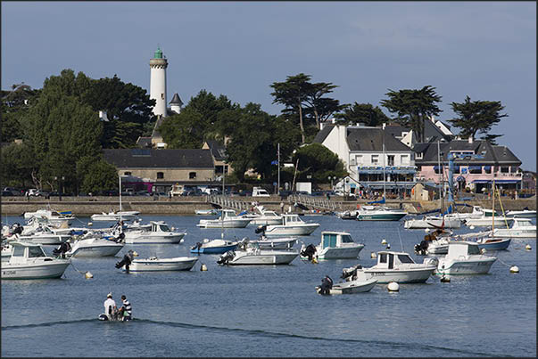
[[[321,241],[315,249],[315,257],[318,259],[357,259],[364,244],[353,241],[350,233],[329,232],[321,233]],[[308,257],[304,244],[301,248],[301,257]]]

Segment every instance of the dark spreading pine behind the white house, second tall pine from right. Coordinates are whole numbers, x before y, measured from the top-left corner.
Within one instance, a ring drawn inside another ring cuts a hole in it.
[[[389,99],[383,100],[381,105],[391,113],[396,113],[394,120],[401,126],[411,128],[419,141],[424,142],[425,121],[442,111],[435,104],[441,102],[441,96],[435,94],[435,87],[424,86],[420,90],[405,89],[398,92],[389,89],[385,95]]]

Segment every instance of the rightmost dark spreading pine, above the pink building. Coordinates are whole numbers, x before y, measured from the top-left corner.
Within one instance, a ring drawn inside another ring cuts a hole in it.
[[[465,102],[452,102],[451,107],[459,117],[449,119],[449,122],[461,129],[459,135],[474,138],[476,133],[484,134],[483,139],[492,144],[501,135],[490,135],[488,132],[492,126],[501,122],[501,118],[508,117],[507,114],[501,114],[504,106],[500,101],[471,101],[467,96]]]

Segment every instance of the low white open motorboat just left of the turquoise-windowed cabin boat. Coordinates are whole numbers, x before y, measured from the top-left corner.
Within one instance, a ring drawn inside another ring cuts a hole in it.
[[[289,265],[299,256],[298,251],[260,249],[257,243],[249,243],[244,250],[229,250],[219,257],[219,265]]]

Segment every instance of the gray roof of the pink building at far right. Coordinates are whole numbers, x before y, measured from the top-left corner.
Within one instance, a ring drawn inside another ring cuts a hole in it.
[[[442,159],[448,160],[450,151],[473,151],[474,154],[484,156],[484,159],[455,159],[454,163],[476,163],[489,165],[512,165],[519,166],[521,161],[506,146],[492,145],[484,140],[453,140],[450,143],[440,143],[439,149],[443,152]],[[417,143],[414,151],[423,153],[422,159],[416,159],[418,166],[437,165],[437,143]]]

